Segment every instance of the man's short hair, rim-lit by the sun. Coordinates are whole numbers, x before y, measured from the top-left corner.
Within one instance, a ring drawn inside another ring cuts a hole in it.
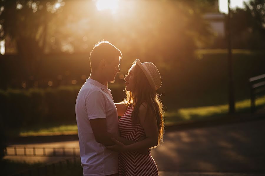
[[[120,57],[120,59],[122,58],[120,50],[108,41],[100,41],[94,45],[94,48],[90,53],[89,60],[91,70],[97,68],[102,59],[112,61],[116,57]]]

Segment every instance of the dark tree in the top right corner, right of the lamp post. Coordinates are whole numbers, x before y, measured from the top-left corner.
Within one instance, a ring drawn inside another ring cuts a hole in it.
[[[265,0],[245,2],[245,8],[232,11],[233,48],[265,48]],[[244,19],[244,20],[243,20]]]

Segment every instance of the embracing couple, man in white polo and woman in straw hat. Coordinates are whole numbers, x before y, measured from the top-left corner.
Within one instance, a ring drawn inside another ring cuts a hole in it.
[[[156,94],[161,77],[153,63],[135,60],[124,78],[127,97],[114,103],[108,82],[120,72],[121,58],[107,41],[90,54],[91,74],[75,109],[84,176],[158,175],[150,148],[163,139],[163,106]]]

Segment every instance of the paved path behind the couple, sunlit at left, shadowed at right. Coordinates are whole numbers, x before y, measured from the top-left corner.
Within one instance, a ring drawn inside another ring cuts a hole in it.
[[[261,174],[265,173],[264,136],[265,120],[165,131],[164,143],[151,153],[161,176],[265,175]],[[78,141],[21,146],[78,148]],[[23,150],[21,152],[23,153]],[[11,156],[6,158],[19,159]],[[23,158],[25,157],[20,159]],[[42,162],[51,160],[48,157],[27,157],[26,160],[36,161],[38,158]]]

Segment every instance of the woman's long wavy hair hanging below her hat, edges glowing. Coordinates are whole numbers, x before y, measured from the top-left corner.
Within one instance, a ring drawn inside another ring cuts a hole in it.
[[[125,103],[126,107],[133,106],[133,111],[131,114],[132,122],[139,123],[139,107],[143,102],[146,102],[146,115],[155,115],[157,121],[158,145],[160,145],[160,142],[163,142],[164,134],[164,111],[162,101],[160,99],[159,94],[157,94],[155,90],[152,89],[152,87],[150,86],[144,72],[138,65],[135,64],[135,61],[132,63],[132,66],[129,71],[132,69],[132,67],[135,67],[134,74],[136,76],[136,82],[133,86],[133,92],[125,90],[126,98],[122,103]]]

